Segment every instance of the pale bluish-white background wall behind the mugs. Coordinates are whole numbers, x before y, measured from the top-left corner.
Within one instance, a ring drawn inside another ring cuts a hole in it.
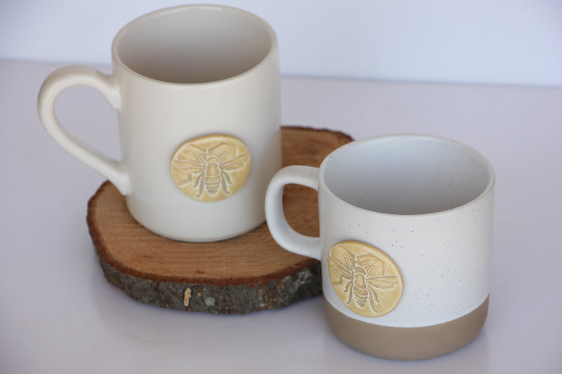
[[[270,22],[282,74],[562,86],[561,0],[223,0]],[[174,0],[0,0],[0,58],[110,64]]]

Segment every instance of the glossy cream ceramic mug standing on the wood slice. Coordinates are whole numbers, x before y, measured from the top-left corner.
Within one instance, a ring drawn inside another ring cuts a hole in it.
[[[189,5],[143,15],[112,44],[113,73],[74,65],[39,93],[46,131],[126,196],[156,234],[216,241],[265,221],[263,199],[281,167],[275,32],[237,8]],[[60,127],[55,100],[96,88],[117,111],[122,161],[84,147]]]

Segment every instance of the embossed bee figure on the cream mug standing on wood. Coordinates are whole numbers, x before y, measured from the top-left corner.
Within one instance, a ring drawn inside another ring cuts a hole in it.
[[[191,182],[195,176],[193,187],[199,189],[197,197],[202,196],[204,189],[207,189],[209,194],[214,195],[221,187],[226,194],[230,194],[228,185],[232,185],[233,179],[230,177],[229,171],[242,168],[244,161],[248,159],[248,154],[244,153],[228,159],[230,149],[222,149],[215,152],[216,148],[223,145],[230,146],[226,142],[220,142],[214,147],[205,149],[198,145],[190,144],[191,147],[200,150],[200,152],[195,153],[198,162],[182,159],[181,156],[174,161],[180,172],[188,176],[186,180],[179,182],[179,185]]]

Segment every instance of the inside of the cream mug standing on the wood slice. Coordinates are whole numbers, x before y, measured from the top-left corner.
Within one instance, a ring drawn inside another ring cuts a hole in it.
[[[115,37],[113,54],[150,79],[201,84],[259,65],[274,41],[273,30],[251,13],[220,6],[183,6],[133,20]]]

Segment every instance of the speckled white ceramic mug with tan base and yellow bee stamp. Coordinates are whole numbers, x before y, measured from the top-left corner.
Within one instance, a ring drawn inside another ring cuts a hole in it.
[[[320,237],[295,232],[283,186],[318,190]],[[273,238],[322,262],[325,314],[351,347],[389,359],[455,351],[488,312],[495,174],[478,152],[426,135],[388,135],[336,149],[320,168],[271,180]]]

